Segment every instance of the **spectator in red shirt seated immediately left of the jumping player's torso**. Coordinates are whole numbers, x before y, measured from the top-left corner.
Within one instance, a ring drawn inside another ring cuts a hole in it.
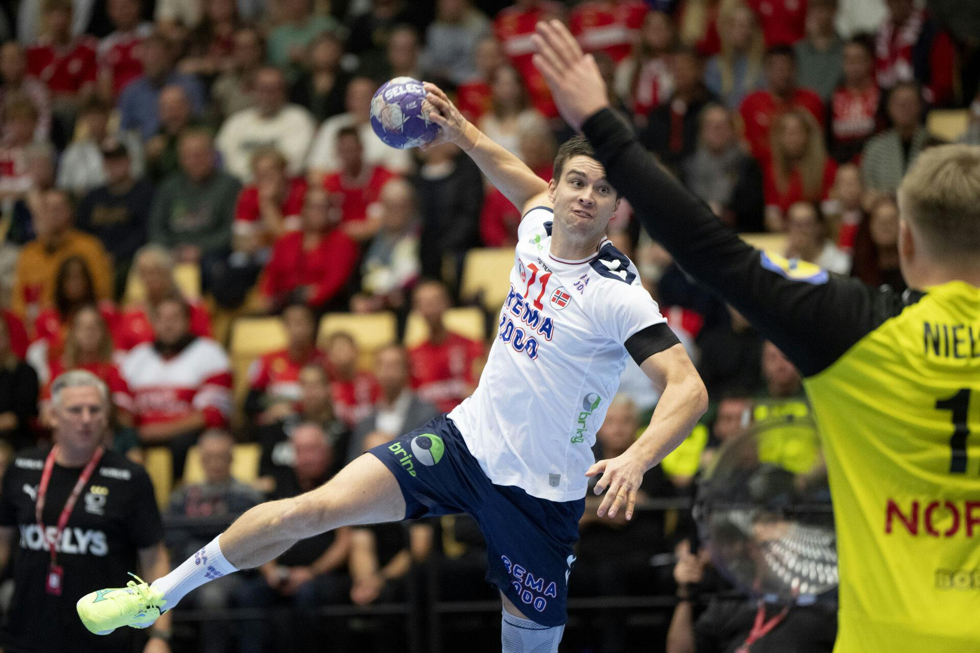
[[[412,388],[440,412],[449,412],[476,388],[473,368],[484,355],[483,344],[446,329],[449,293],[438,281],[418,284],[412,304],[428,327],[428,338],[409,350]]]

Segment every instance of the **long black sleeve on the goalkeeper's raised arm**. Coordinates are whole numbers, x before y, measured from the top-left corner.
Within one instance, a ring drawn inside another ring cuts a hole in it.
[[[804,278],[791,265],[780,269],[768,261],[663,171],[611,110],[589,117],[582,131],[650,235],[690,275],[745,315],[805,376],[829,366],[901,311],[902,299],[895,292],[823,271]]]

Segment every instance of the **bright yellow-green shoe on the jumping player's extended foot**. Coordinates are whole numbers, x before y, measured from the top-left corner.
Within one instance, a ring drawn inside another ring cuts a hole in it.
[[[78,599],[75,608],[86,629],[95,634],[109,634],[121,626],[134,629],[153,626],[167,603],[164,593],[135,574],[129,576],[139,583],[129,581],[125,587],[100,589]]]

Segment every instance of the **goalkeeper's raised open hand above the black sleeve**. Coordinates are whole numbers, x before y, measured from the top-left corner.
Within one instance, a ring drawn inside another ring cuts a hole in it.
[[[592,55],[560,21],[542,21],[531,36],[537,54],[532,61],[541,71],[565,121],[581,129],[585,118],[609,106],[606,82]]]

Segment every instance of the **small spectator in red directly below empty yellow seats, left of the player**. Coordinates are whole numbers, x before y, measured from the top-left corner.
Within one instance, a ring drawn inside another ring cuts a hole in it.
[[[349,427],[367,417],[381,396],[377,380],[358,369],[360,354],[357,342],[344,331],[331,334],[326,341],[326,371],[330,376],[333,410]]]

